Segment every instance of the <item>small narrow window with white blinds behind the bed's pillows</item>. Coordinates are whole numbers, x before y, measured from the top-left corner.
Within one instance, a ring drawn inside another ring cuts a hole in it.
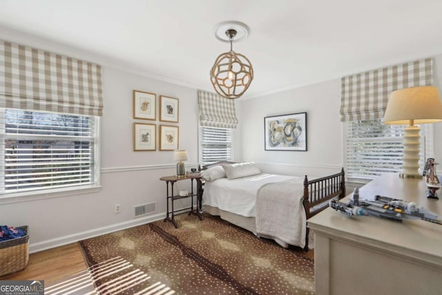
[[[200,126],[200,164],[233,160],[232,130]]]

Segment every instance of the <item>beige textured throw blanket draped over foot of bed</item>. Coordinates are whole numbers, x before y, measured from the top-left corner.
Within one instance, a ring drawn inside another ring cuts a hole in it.
[[[302,206],[304,179],[265,184],[256,199],[257,234],[305,247],[307,218]]]

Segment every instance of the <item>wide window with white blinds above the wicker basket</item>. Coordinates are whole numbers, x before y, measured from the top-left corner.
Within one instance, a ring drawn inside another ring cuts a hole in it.
[[[0,108],[0,196],[98,185],[98,117]]]

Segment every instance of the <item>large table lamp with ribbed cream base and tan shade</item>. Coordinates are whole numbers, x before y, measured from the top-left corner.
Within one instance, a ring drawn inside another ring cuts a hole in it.
[[[407,124],[403,136],[403,166],[399,176],[422,178],[419,173],[419,132],[414,124],[442,121],[442,102],[434,86],[419,86],[393,91],[385,110],[385,124]]]

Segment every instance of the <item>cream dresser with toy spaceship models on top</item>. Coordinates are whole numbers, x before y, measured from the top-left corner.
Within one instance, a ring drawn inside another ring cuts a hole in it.
[[[441,200],[427,199],[425,190],[423,179],[386,174],[361,187],[359,196],[416,202],[442,216],[442,189]],[[315,238],[316,294],[442,294],[442,225],[349,218],[327,208],[308,226]]]

